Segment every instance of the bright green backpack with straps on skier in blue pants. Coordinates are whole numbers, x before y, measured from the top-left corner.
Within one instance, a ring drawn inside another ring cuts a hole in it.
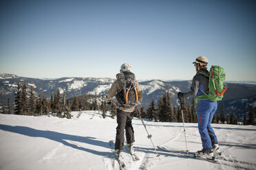
[[[223,81],[225,80],[225,71],[221,66],[211,66],[209,74],[199,72],[206,77],[209,77],[209,93],[208,95],[199,88],[204,95],[199,95],[198,100],[209,99],[211,101],[220,101],[224,97],[227,88],[224,88]]]

